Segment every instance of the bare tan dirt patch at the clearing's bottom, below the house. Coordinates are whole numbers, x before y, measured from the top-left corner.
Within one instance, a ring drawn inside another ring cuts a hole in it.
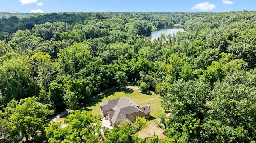
[[[165,137],[164,131],[156,127],[156,122],[151,123],[150,125],[138,132],[138,136],[142,139],[152,137],[153,135],[158,135],[160,139]]]

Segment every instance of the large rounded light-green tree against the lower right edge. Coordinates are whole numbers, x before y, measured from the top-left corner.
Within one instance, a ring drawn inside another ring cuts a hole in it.
[[[242,126],[253,137],[256,133],[256,88],[223,82],[212,94],[215,98],[209,116],[230,127]]]

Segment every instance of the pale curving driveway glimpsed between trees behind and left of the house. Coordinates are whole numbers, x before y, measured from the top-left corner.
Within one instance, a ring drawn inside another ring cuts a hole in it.
[[[118,88],[118,86],[113,86],[113,87],[107,88],[107,89],[105,89],[105,90],[99,92],[98,94],[94,95],[90,100],[92,101],[92,100],[98,98],[99,96],[101,96],[102,94],[104,94],[104,93],[106,93],[106,92],[108,92],[108,91],[110,91],[110,90],[116,89],[116,88]],[[139,89],[139,88],[136,87],[136,86],[127,86],[127,85],[123,85],[122,88]],[[69,110],[69,109],[66,109],[66,111],[61,112],[61,113],[59,113],[58,115],[53,116],[52,118],[50,118],[50,121],[56,122],[56,119],[58,119],[58,118],[64,116],[64,115],[67,114],[68,112],[70,112],[70,110]]]

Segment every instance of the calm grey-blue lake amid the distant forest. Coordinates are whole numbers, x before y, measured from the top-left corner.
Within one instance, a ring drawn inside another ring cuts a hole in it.
[[[161,29],[152,29],[152,32],[151,32],[151,35],[150,35],[150,39],[151,40],[154,40],[154,39],[157,39],[158,37],[160,37],[161,33],[165,33],[165,35],[172,35],[173,33],[176,33],[176,32],[184,32],[184,29],[183,28],[161,28]]]

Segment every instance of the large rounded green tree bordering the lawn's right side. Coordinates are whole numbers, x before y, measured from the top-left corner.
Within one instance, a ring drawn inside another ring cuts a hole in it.
[[[168,93],[164,98],[168,98],[172,103],[170,110],[175,117],[179,118],[192,111],[199,118],[203,118],[206,113],[204,104],[210,98],[209,93],[210,86],[200,80],[187,82],[178,80],[169,86]]]

